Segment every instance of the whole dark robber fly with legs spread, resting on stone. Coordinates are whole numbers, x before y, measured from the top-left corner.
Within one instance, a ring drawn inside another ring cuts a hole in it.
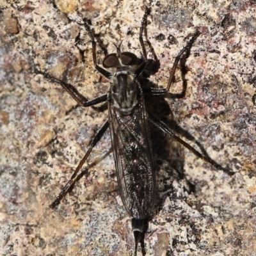
[[[191,48],[196,37],[200,34],[196,31],[195,35],[191,37],[188,44],[175,58],[166,88],[143,88],[140,81],[143,76],[143,71],[148,65],[147,52],[143,42],[143,31],[146,29],[147,16],[149,13],[150,8],[146,8],[140,27],[140,45],[143,51],[143,61],[140,63],[139,58],[135,54],[132,52],[121,52],[120,47],[116,47],[117,52],[108,54],[102,62],[102,66],[106,69],[111,68],[112,72],[97,65],[95,38],[86,20],[84,20],[83,25],[92,42],[93,64],[99,73],[110,81],[108,93],[96,99],[88,100],[77,92],[76,88],[71,84],[55,79],[40,70],[35,70],[36,74],[42,74],[52,82],[60,84],[80,106],[89,107],[102,102],[108,102],[108,120],[106,120],[104,125],[102,125],[97,132],[85,156],[72,174],[71,179],[68,181],[65,188],[63,188],[60,195],[58,195],[56,200],[51,204],[51,207],[53,208],[60,204],[61,198],[65,196],[68,189],[70,189],[76,181],[77,173],[81,170],[86,159],[92,152],[93,147],[95,147],[109,128],[120,195],[126,211],[132,217],[135,255],[137,254],[138,243],[141,243],[141,250],[143,255],[145,255],[143,244],[145,230],[147,230],[148,220],[154,216],[158,198],[149,123],[158,127],[168,136],[172,136],[172,138],[179,141],[196,156],[216,166],[214,161],[203,156],[200,152],[195,150],[195,148],[175,136],[166,124],[148,113],[145,109],[145,93],[164,95],[169,91],[182,54]]]

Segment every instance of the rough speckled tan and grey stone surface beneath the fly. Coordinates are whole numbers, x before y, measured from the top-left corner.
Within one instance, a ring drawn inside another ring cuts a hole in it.
[[[148,39],[161,63],[150,79],[158,86],[166,86],[189,36],[196,28],[202,32],[186,60],[186,95],[152,97],[148,108],[236,172],[229,177],[152,128],[163,202],[145,236],[147,255],[255,255],[253,0],[1,1],[0,255],[132,255],[131,223],[118,193],[109,133],[86,163],[97,164],[49,209],[108,111],[74,108],[68,93],[33,74],[33,67],[67,79],[88,99],[106,93],[108,81],[93,69],[90,38],[77,22],[90,19],[108,52],[122,40],[124,51],[141,56],[145,4],[152,6]],[[84,57],[76,45],[79,33]],[[103,48],[97,53],[100,63]],[[171,92],[181,90],[177,70]]]

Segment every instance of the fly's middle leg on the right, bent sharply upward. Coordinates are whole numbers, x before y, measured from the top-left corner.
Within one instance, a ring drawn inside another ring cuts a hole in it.
[[[171,87],[171,85],[172,85],[172,83],[174,81],[175,70],[176,70],[177,65],[178,65],[178,63],[180,61],[180,58],[182,57],[182,54],[184,54],[184,52],[188,51],[188,49],[190,49],[192,47],[192,45],[194,44],[194,42],[195,42],[196,38],[198,37],[198,35],[200,35],[200,32],[197,30],[196,33],[189,40],[188,44],[176,56],[175,61],[173,63],[172,71],[170,72],[170,77],[169,77],[168,84],[167,84],[166,88],[163,88],[163,89],[159,89],[159,88],[143,88],[143,92],[150,93],[152,95],[163,95],[164,93],[168,92],[168,90],[170,90],[170,87]]]

